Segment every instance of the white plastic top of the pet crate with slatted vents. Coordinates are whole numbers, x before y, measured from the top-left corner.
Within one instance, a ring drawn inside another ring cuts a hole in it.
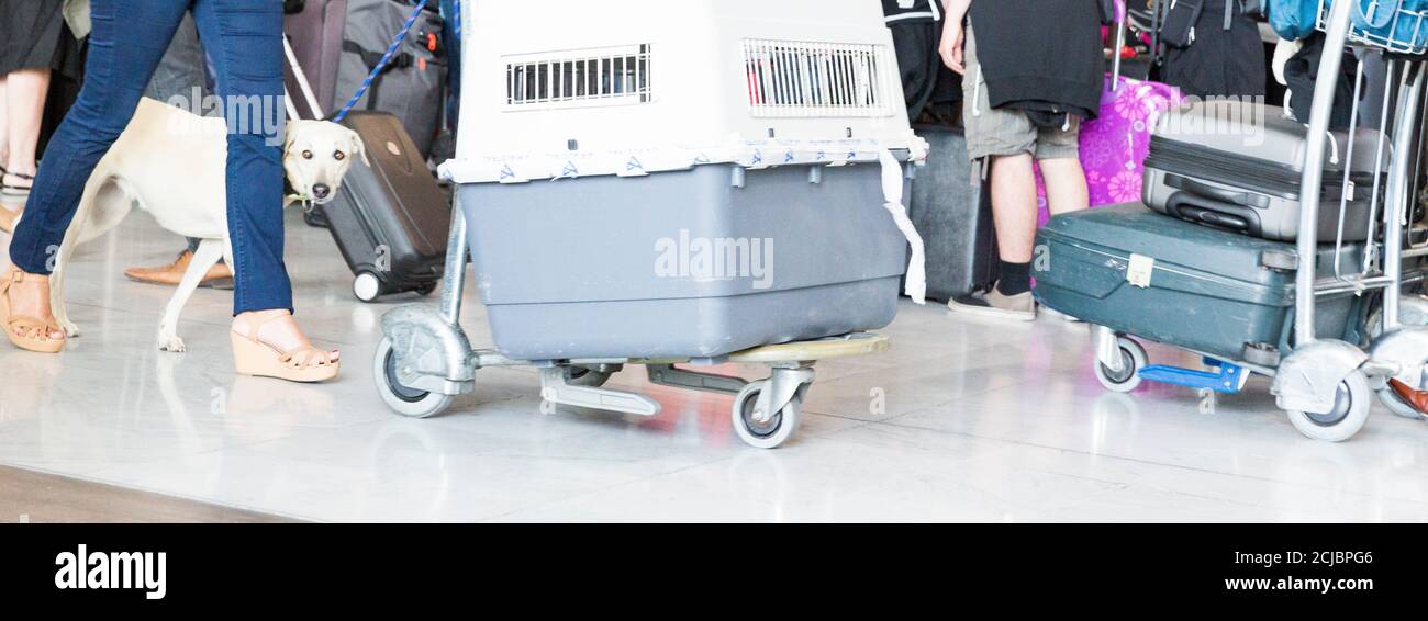
[[[873,0],[468,0],[460,183],[925,157]]]

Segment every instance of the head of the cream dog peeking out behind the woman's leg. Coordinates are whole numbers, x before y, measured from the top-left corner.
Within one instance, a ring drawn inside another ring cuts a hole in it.
[[[331,203],[353,158],[367,161],[361,136],[331,121],[291,121],[283,148],[283,171],[297,196],[316,204]]]

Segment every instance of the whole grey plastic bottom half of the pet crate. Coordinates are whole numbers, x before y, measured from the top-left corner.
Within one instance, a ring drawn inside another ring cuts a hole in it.
[[[881,168],[818,170],[463,184],[497,348],[516,360],[717,358],[888,325],[907,241],[881,207]]]

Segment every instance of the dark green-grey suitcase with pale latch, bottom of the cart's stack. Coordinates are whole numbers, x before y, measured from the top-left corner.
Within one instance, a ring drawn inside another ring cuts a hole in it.
[[[1341,271],[1357,274],[1362,247],[1341,253]],[[1334,254],[1332,244],[1321,250],[1321,277],[1334,274]],[[1295,257],[1294,244],[1135,203],[1051,218],[1037,236],[1032,274],[1037,298],[1058,313],[1227,361],[1277,365],[1292,328]],[[1352,293],[1321,297],[1318,333],[1362,343],[1367,306]]]

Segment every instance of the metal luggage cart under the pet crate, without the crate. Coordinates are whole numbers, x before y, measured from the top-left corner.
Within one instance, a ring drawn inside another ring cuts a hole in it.
[[[630,391],[604,388],[628,364],[645,365],[653,384],[718,393],[734,397],[731,420],[738,437],[755,448],[777,448],[798,428],[803,400],[820,360],[883,353],[888,337],[871,333],[778,345],[754,347],[714,358],[597,358],[524,361],[496,350],[473,350],[461,330],[461,296],[467,276],[467,223],[453,210],[441,306],[404,306],[381,318],[386,337],[377,347],[373,377],[377,393],[391,410],[413,418],[441,414],[451,400],[476,387],[484,367],[540,368],[541,398],[548,403],[653,417],[660,404]],[[680,365],[764,364],[765,380],[697,371]]]

